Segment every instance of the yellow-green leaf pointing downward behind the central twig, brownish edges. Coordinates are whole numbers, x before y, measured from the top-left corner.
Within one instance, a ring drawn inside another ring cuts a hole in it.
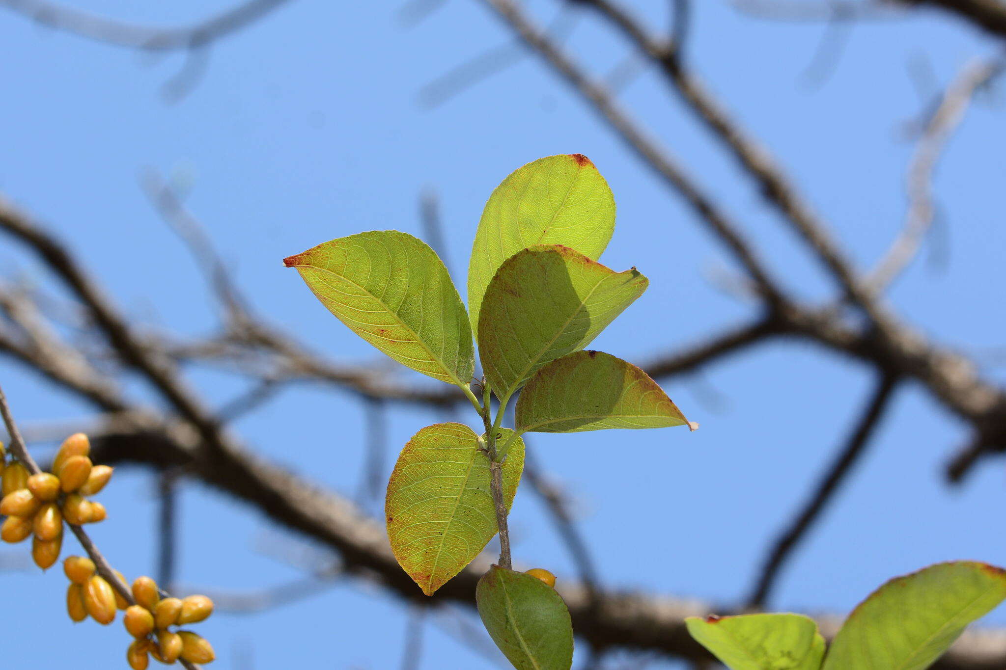
[[[498,439],[511,432],[500,429]],[[507,453],[509,509],[524,469],[524,441],[516,438]],[[384,514],[395,560],[427,596],[470,564],[498,529],[489,459],[472,429],[435,424],[413,435],[387,483]]]

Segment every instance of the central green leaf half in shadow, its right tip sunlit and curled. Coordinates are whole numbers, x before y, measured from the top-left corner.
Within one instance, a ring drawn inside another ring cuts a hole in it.
[[[501,399],[547,363],[586,347],[643,294],[636,268],[614,272],[561,245],[518,251],[489,282],[479,355]]]

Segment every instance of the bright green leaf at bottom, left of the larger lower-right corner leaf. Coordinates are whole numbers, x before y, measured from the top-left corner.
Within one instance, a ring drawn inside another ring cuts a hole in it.
[[[685,619],[688,632],[730,670],[818,670],[824,638],[799,614]]]

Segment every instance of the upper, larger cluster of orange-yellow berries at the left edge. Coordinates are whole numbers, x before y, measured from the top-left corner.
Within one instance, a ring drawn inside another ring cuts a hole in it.
[[[103,521],[107,515],[105,505],[85,496],[105,488],[112,468],[94,465],[89,453],[88,436],[76,433],[59,447],[52,472],[29,476],[27,468],[17,461],[3,466],[0,514],[7,519],[0,526],[0,539],[20,542],[34,533],[31,555],[42,570],[59,559],[64,519],[82,525]]]

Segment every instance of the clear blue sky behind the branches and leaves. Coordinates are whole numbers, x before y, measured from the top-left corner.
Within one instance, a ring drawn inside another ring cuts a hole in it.
[[[210,11],[209,3],[191,0],[72,4],[170,24]],[[666,4],[634,3],[660,26],[667,23]],[[805,73],[822,26],[754,20],[722,0],[694,4],[689,60],[776,152],[856,261],[871,264],[900,226],[911,120],[928,95],[995,45],[939,15],[864,23],[851,31],[834,72],[808,86]],[[447,260],[464,285],[492,188],[533,159],[582,153],[607,177],[619,206],[603,260],[617,270],[637,266],[651,281],[597,349],[642,362],[751,315],[751,305],[709,281],[730,267],[723,250],[533,57],[435,108],[420,104],[424,86],[511,38],[479,2],[454,0],[408,29],[398,6],[292,2],[214,45],[202,79],[171,104],[163,86],[182,55],[137,54],[0,11],[7,55],[0,59],[0,192],[57,230],[131,316],[155,328],[204,334],[214,326],[215,305],[192,258],[138,185],[144,169],[159,170],[184,185],[186,205],[262,313],[339,361],[382,364],[281,259],[361,230],[422,234],[417,198],[434,189],[443,205]],[[557,6],[529,3],[542,21]],[[585,16],[567,45],[600,72],[625,56],[622,41]],[[911,74],[919,63],[932,75],[921,95]],[[808,299],[832,294],[750,182],[657,77],[643,74],[620,98],[742,222],[790,286]],[[988,353],[1003,340],[995,305],[1006,298],[999,199],[1004,121],[994,94],[969,111],[936,184],[938,238],[946,241],[930,246],[891,293],[899,313],[924,332],[979,361],[991,361]],[[38,266],[8,240],[0,242],[0,267],[4,275],[42,280]],[[984,372],[1006,381],[991,362]],[[26,424],[89,414],[7,361],[0,361],[0,378]],[[240,379],[216,372],[192,371],[190,380],[215,404],[243,388]],[[729,605],[749,588],[767,543],[830,461],[871,383],[867,370],[848,361],[776,343],[667,384],[702,424],[694,434],[543,435],[531,448],[572,494],[606,586]],[[141,384],[133,390],[147,393]],[[388,467],[411,434],[444,419],[396,408]],[[235,428],[270,458],[337,491],[356,490],[365,419],[351,395],[290,391]],[[942,480],[942,465],[965,437],[957,420],[918,389],[902,388],[862,466],[783,575],[772,607],[841,612],[885,579],[930,563],[1006,564],[1006,542],[989,511],[1003,504],[1001,461],[984,464],[959,489]],[[46,446],[39,445],[40,453]],[[152,491],[149,475],[123,471],[103,493],[110,518],[96,528],[96,539],[131,578],[154,570]],[[264,543],[301,540],[257,512],[190,484],[182,513],[185,584],[243,592],[301,575],[261,550]],[[518,493],[511,519],[521,563],[573,576],[528,490]],[[7,547],[3,555],[24,550]],[[7,624],[5,666],[24,667],[43,653],[49,667],[107,668],[125,653],[120,624],[98,630],[63,617],[61,575],[6,573],[0,585],[5,599],[20,604],[20,616]],[[314,660],[322,667],[383,669],[400,663],[406,621],[396,600],[354,582],[261,614],[221,614],[201,628],[217,648],[216,667]],[[53,623],[43,629],[37,622]],[[1006,625],[1006,612],[987,622]],[[426,626],[422,667],[494,667],[439,623]]]

